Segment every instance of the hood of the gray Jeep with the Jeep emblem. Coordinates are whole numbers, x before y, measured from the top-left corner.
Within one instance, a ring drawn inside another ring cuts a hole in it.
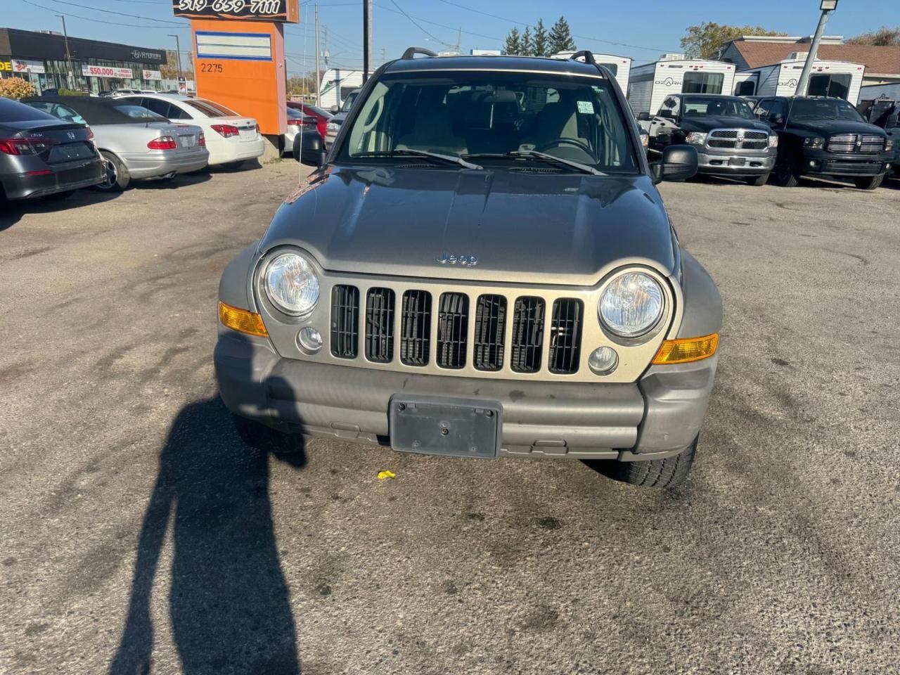
[[[259,251],[284,245],[330,271],[524,284],[592,285],[628,262],[670,274],[676,260],[648,176],[506,167],[331,166],[288,197]]]

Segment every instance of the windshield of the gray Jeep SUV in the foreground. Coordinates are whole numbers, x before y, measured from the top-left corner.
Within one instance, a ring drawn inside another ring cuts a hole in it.
[[[346,138],[345,158],[398,150],[502,158],[536,150],[604,171],[637,168],[625,115],[602,77],[503,71],[384,76]]]

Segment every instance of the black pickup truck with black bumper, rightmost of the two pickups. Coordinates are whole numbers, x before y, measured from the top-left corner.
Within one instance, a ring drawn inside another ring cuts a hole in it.
[[[874,190],[894,161],[894,141],[840,98],[770,96],[753,112],[779,134],[775,182],[794,187],[801,175],[851,179]]]

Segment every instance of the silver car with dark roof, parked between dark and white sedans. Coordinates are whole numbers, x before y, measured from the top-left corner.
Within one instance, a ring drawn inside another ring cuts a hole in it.
[[[173,178],[209,162],[200,127],[175,124],[133,103],[86,96],[32,96],[23,103],[90,125],[106,166],[101,189],[124,190],[142,178]]]

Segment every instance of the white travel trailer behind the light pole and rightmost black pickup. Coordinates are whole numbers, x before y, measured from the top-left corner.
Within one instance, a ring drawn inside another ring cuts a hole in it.
[[[793,96],[806,63],[806,53],[791,54],[771,66],[742,70],[734,76],[734,94],[738,96]],[[813,62],[806,94],[834,96],[856,105],[860,99],[862,77],[866,67],[849,61]]]

